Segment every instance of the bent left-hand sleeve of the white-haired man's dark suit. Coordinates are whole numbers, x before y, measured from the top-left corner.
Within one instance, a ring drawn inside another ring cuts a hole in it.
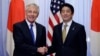
[[[24,42],[23,33],[18,25],[13,26],[13,39],[14,39],[16,48],[22,51],[26,51],[31,54],[35,54],[37,52],[37,47],[26,44]]]

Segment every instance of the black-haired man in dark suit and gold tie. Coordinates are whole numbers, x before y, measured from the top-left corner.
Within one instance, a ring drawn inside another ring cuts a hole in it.
[[[53,29],[52,46],[48,47],[48,53],[56,53],[56,56],[86,56],[86,32],[83,25],[72,20],[74,8],[65,3],[60,7],[63,22]]]

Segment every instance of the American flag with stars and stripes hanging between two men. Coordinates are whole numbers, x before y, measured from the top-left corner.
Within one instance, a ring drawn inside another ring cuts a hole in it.
[[[48,26],[48,33],[47,33],[47,45],[51,46],[52,42],[52,35],[53,35],[53,27],[62,22],[60,16],[60,6],[65,3],[64,0],[51,0],[50,4],[50,16],[49,16],[49,26]]]

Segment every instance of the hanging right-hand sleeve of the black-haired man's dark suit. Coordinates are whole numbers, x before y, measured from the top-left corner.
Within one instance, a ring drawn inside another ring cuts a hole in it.
[[[86,32],[84,27],[79,31],[80,56],[87,55]]]

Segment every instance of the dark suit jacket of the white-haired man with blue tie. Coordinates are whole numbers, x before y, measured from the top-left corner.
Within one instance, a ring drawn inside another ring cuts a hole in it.
[[[13,39],[15,42],[14,56],[42,56],[37,52],[38,47],[46,46],[45,27],[36,23],[36,43],[33,44],[32,36],[26,21],[14,24]]]

